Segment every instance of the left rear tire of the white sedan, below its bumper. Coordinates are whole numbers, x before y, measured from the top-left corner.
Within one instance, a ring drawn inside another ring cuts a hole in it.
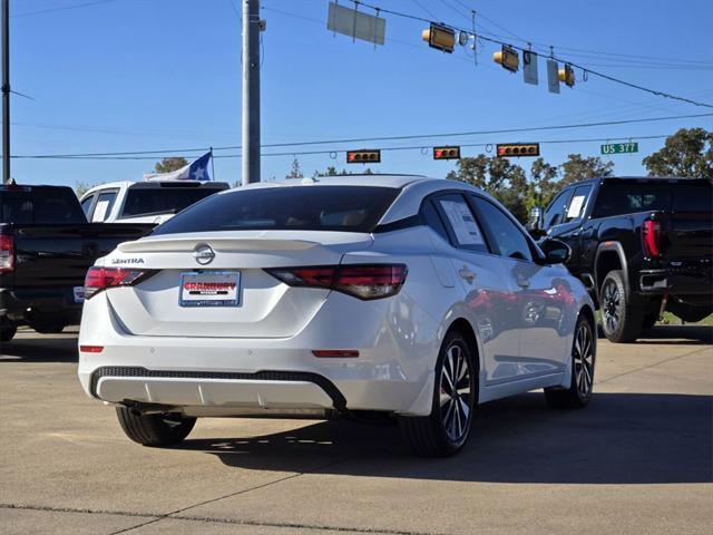
[[[177,412],[136,415],[131,409],[117,407],[116,416],[127,437],[144,446],[174,446],[188,436],[195,418]]]

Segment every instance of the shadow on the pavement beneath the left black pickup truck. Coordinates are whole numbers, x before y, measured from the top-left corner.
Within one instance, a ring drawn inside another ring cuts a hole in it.
[[[77,335],[71,332],[37,334],[37,338],[14,338],[0,344],[0,363],[78,361]]]

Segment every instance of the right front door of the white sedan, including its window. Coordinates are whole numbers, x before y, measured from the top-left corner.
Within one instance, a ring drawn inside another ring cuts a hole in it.
[[[472,195],[471,201],[497,247],[501,276],[516,288],[508,313],[518,329],[518,351],[497,359],[499,371],[494,380],[533,379],[564,371],[566,307],[573,299],[567,279],[560,269],[541,263],[534,243],[512,216],[479,195]]]

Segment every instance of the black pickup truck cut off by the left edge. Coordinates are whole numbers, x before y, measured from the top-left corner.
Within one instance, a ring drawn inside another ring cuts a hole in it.
[[[69,187],[0,185],[0,341],[22,324],[48,333],[78,323],[89,266],[154,226],[87,223]]]

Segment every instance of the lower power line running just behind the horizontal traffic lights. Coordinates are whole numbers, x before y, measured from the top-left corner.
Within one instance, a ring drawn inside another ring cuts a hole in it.
[[[664,139],[670,137],[672,134],[661,134],[661,135],[651,135],[651,136],[622,136],[622,137],[596,137],[596,138],[577,138],[577,139],[547,139],[543,142],[537,142],[540,145],[558,145],[558,144],[573,144],[573,143],[595,143],[595,142],[632,142],[644,140],[644,139]],[[486,152],[488,147],[494,147],[492,143],[466,143],[460,144],[460,147],[485,147]],[[424,148],[429,148],[429,146],[423,145],[410,145],[410,146],[388,146],[373,148],[383,152],[395,152],[395,150],[423,150]],[[215,147],[214,147],[215,150]],[[283,153],[264,153],[261,156],[307,156],[307,155],[319,155],[319,154],[328,154],[328,155],[336,155],[339,153],[345,153],[350,150],[349,148],[333,148],[333,149],[322,149],[322,150],[290,150]],[[136,153],[144,154],[144,153]],[[215,155],[214,158],[240,158],[241,154],[223,154]],[[33,156],[23,156],[23,155],[13,155],[12,158],[18,159],[89,159],[89,160],[144,160],[144,159],[156,159],[155,156],[108,156],[108,155],[33,155]],[[333,158],[334,159],[334,158]]]

